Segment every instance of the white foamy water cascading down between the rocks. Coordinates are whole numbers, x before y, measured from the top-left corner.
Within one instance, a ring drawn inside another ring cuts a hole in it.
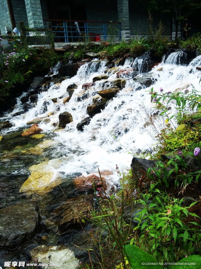
[[[110,183],[113,183],[118,180],[115,172],[116,164],[120,169],[130,167],[132,155],[128,154],[125,148],[136,153],[150,150],[155,143],[148,134],[150,127],[144,127],[145,114],[140,109],[140,104],[143,102],[148,112],[153,113],[154,104],[150,102],[150,95],[148,94],[151,87],[154,87],[156,92],[159,92],[160,87],[163,87],[164,92],[184,91],[186,88],[191,90],[192,86],[200,90],[201,72],[197,71],[195,66],[200,65],[201,56],[196,57],[189,66],[183,66],[175,64],[177,62],[176,57],[178,59],[182,56],[180,52],[173,54],[169,55],[166,63],[161,63],[150,72],[139,75],[157,79],[154,85],[146,89],[136,90],[139,88],[139,84],[134,82],[132,77],[126,77],[125,88],[110,100],[101,113],[96,114],[91,119],[90,124],[84,127],[83,132],[78,131],[76,126],[82,119],[88,117],[87,106],[93,103],[92,97],[96,97],[96,92],[104,89],[102,88],[104,82],[107,81],[106,84],[110,84],[112,80],[117,78],[116,74],[112,74],[107,80],[95,82],[91,89],[82,90],[83,83],[92,82],[93,77],[104,73],[107,69],[106,61],[86,63],[80,67],[76,76],[65,79],[61,85],[53,85],[48,91],[40,93],[35,107],[16,117],[5,114],[3,120],[8,119],[14,125],[11,129],[17,130],[20,127],[27,128],[26,123],[28,121],[36,117],[47,116],[49,112],[54,111],[55,114],[49,117],[50,122],[41,123],[39,127],[45,133],[55,134],[53,139],[58,145],[55,151],[62,151],[63,155],[66,156],[65,162],[57,170],[63,172],[63,174],[80,172],[86,175],[86,173],[97,172],[97,167],[99,167],[100,171],[110,170],[114,172],[113,176],[108,179]],[[143,60],[137,59],[133,62],[133,59],[127,59],[124,66],[120,66],[120,69],[131,68],[132,64],[133,67],[138,65],[138,69],[141,70],[142,66],[140,65],[143,64]],[[158,71],[160,68],[162,70]],[[66,88],[72,83],[76,83],[78,88],[75,89],[70,101],[64,105],[59,97],[68,97]],[[88,98],[78,101],[81,100],[79,97],[86,93]],[[24,95],[25,93],[22,94],[22,96]],[[21,97],[18,99],[20,100]],[[51,101],[55,97],[57,97],[57,103]],[[44,105],[47,107],[45,112]],[[12,114],[21,111],[22,108],[23,105],[18,101]],[[55,132],[56,128],[53,127],[53,123],[59,122],[59,114],[64,111],[72,114],[73,122],[67,124],[65,129],[59,129]],[[125,148],[120,145],[118,140],[113,138],[110,133],[111,130],[114,130],[119,142]],[[3,131],[3,133],[6,133],[6,131]],[[54,159],[54,153],[52,152],[52,159]]]

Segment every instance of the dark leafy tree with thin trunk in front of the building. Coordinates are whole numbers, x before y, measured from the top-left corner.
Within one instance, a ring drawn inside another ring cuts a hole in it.
[[[178,25],[181,20],[201,9],[200,0],[141,0],[144,7],[150,11],[170,14],[176,27],[175,38],[178,37]]]

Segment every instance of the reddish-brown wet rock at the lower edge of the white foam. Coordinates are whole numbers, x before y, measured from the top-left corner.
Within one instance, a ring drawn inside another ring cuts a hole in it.
[[[103,181],[103,184],[101,182],[101,178]],[[76,189],[79,189],[81,191],[94,191],[94,187],[93,187],[93,182],[96,185],[97,188],[104,188],[105,190],[107,189],[107,185],[105,182],[105,178],[103,176],[97,176],[97,175],[90,175],[90,176],[79,176],[77,178],[74,179],[74,185],[76,187]]]

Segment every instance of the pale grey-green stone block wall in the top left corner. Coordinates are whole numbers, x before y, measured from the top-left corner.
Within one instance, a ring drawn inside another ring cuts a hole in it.
[[[6,0],[0,1],[0,10],[1,10],[1,16],[0,16],[1,34],[5,34],[5,26],[11,29],[10,16],[9,16],[8,5],[7,5]]]

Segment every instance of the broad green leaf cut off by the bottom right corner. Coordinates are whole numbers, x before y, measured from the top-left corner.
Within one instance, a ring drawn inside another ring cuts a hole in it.
[[[182,260],[178,261],[178,265],[173,265],[171,269],[200,269],[201,267],[201,256],[191,255]],[[182,265],[183,263],[183,265]],[[188,263],[196,263],[195,265],[188,265]],[[180,265],[181,264],[181,265]]]

